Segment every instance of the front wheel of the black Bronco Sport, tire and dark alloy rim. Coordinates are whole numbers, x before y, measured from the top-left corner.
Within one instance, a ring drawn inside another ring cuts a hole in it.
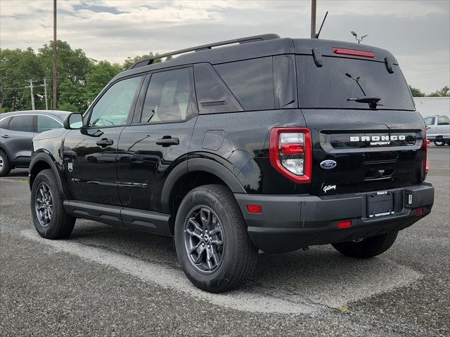
[[[63,239],[70,235],[75,218],[64,211],[63,195],[53,171],[43,170],[36,176],[30,204],[34,227],[41,237]]]

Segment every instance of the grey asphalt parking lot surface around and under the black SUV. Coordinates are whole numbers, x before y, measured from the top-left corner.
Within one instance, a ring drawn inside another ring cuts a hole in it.
[[[0,336],[449,336],[450,147],[428,155],[432,213],[382,256],[260,255],[219,295],[191,286],[167,237],[77,220],[70,239],[41,239],[14,170],[0,178]]]

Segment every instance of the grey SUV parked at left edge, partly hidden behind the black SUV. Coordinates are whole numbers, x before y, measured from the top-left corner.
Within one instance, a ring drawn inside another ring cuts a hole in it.
[[[28,167],[32,139],[38,133],[63,128],[67,111],[34,110],[0,114],[0,177],[15,167]]]

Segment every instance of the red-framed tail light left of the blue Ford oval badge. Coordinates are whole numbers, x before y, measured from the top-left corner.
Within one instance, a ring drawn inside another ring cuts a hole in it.
[[[272,128],[270,163],[295,183],[311,182],[312,146],[309,128]]]

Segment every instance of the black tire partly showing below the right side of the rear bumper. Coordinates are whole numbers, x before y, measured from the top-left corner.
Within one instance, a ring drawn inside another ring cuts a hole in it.
[[[340,244],[333,244],[332,246],[344,254],[352,258],[373,258],[373,256],[380,255],[390,249],[397,239],[399,232],[392,231],[386,234],[380,234],[376,237],[368,237],[360,242],[342,242]]]

